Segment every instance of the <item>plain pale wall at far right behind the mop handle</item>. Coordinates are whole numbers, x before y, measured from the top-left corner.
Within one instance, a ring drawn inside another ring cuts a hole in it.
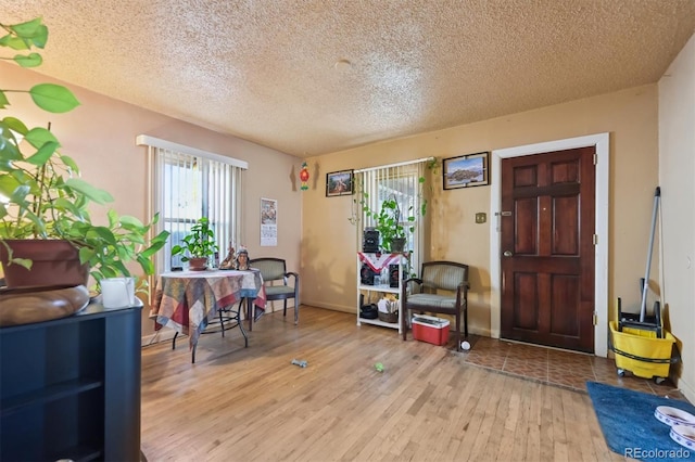
[[[679,388],[695,402],[695,36],[659,81],[664,300],[682,361]]]

